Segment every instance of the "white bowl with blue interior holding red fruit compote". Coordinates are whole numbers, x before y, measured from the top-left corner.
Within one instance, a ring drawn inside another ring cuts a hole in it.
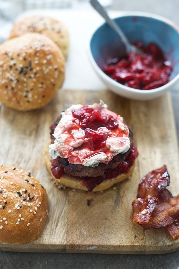
[[[104,23],[89,45],[92,67],[116,94],[134,100],[151,100],[179,81],[179,32],[161,16],[130,12],[115,21],[141,55],[126,53],[117,34]]]

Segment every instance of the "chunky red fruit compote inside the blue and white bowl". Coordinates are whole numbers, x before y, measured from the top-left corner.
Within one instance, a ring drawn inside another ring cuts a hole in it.
[[[141,42],[135,44],[143,55],[129,52],[126,58],[109,59],[103,71],[113,80],[131,88],[150,90],[169,82],[172,72],[170,62],[155,44],[145,48]]]

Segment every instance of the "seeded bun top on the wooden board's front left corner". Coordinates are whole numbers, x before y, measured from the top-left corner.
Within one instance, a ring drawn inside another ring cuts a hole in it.
[[[47,193],[38,180],[21,168],[0,167],[1,243],[25,244],[37,239],[48,210]]]

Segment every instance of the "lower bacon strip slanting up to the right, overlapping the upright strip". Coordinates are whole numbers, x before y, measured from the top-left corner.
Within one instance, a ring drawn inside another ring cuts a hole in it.
[[[166,227],[172,224],[179,215],[179,195],[169,198],[161,204],[158,204],[153,211],[152,218],[145,225],[144,229],[155,229]]]

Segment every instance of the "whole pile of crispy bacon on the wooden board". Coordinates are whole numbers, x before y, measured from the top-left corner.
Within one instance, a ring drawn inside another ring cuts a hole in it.
[[[133,222],[144,229],[166,227],[173,239],[179,236],[179,195],[165,189],[170,183],[166,165],[145,175],[132,202]]]

